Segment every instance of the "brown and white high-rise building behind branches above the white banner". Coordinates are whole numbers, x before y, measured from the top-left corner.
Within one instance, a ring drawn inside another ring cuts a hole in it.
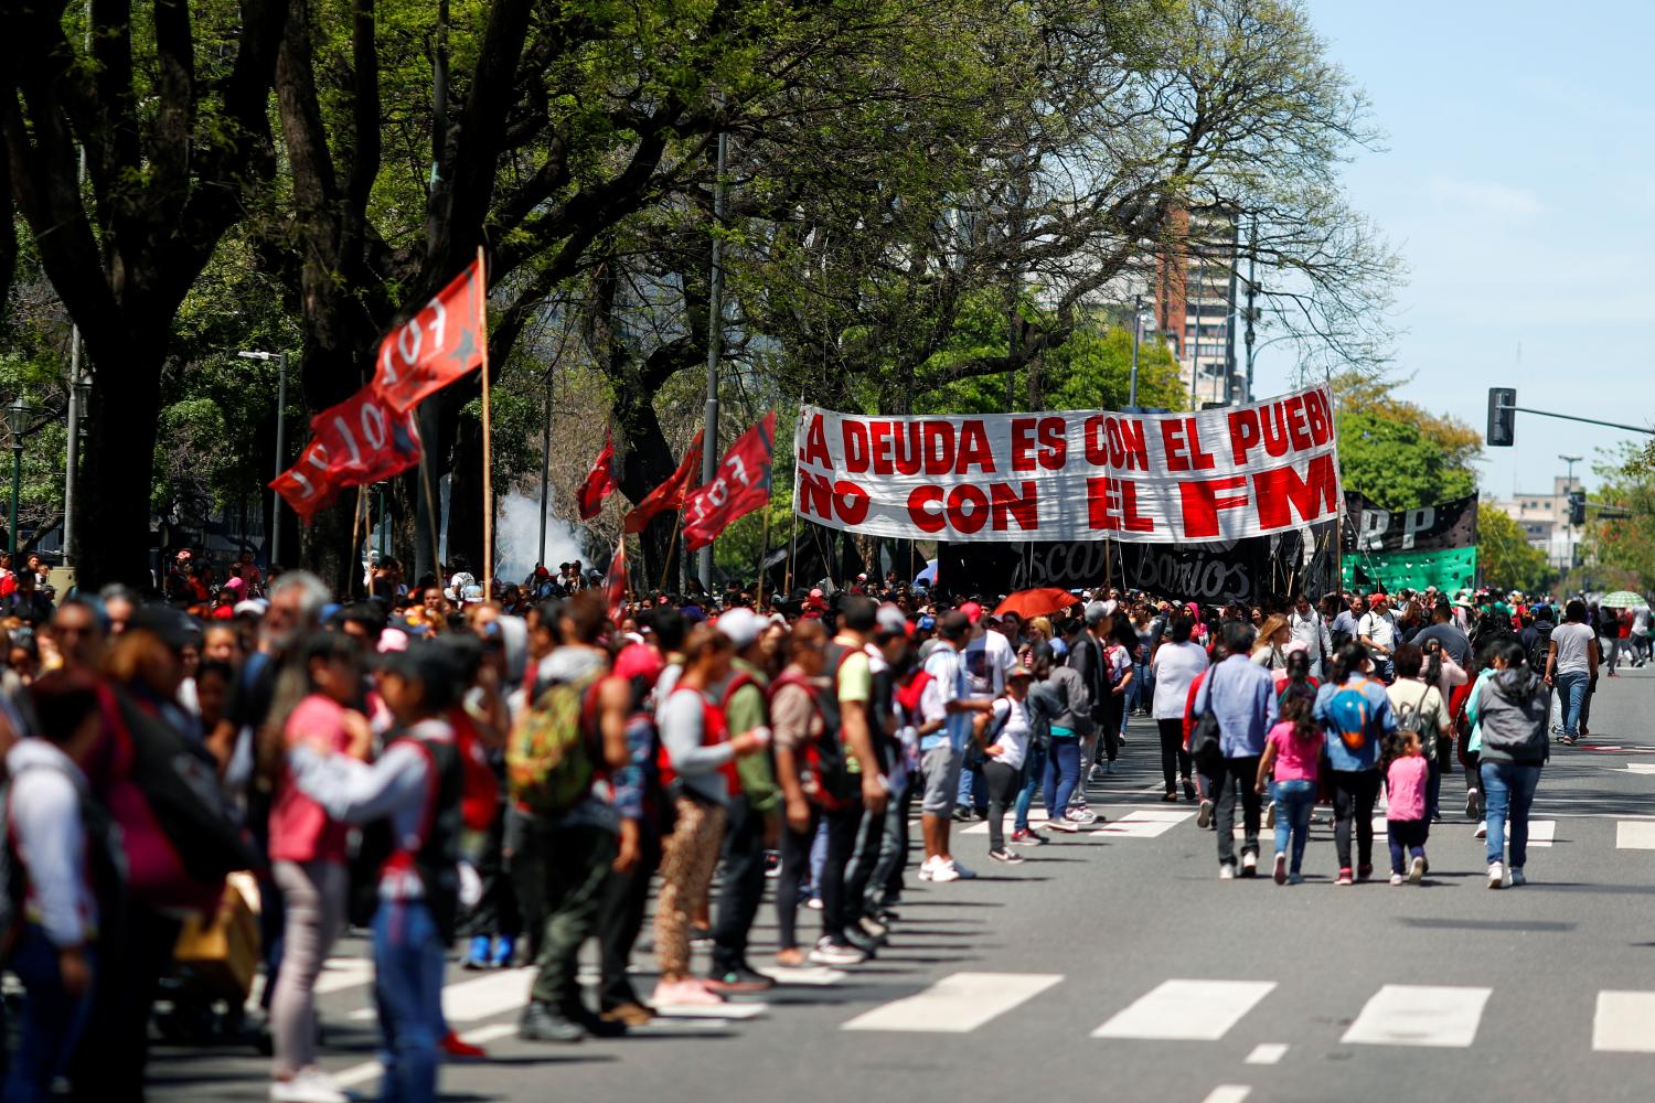
[[[1241,402],[1236,370],[1240,222],[1225,210],[1175,210],[1155,258],[1155,319],[1183,369],[1190,405]]]

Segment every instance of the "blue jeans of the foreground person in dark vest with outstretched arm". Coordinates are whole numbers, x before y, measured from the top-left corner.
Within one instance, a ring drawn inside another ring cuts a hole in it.
[[[382,1103],[435,1103],[447,943],[419,900],[374,913],[374,1002],[386,1068]]]

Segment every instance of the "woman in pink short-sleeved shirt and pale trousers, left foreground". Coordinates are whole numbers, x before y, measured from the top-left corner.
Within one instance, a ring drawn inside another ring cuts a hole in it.
[[[300,792],[288,752],[300,744],[367,759],[372,731],[353,704],[361,696],[356,642],[318,632],[276,676],[270,728],[260,741],[261,774],[273,784],[270,863],[286,911],[281,967],[270,1002],[275,1052],[270,1098],[276,1103],[343,1103],[349,1096],[316,1063],[313,989],[328,949],[344,928],[349,825]]]

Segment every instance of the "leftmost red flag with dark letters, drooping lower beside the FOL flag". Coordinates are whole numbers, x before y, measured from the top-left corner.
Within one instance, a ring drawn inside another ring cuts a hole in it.
[[[341,489],[401,475],[420,456],[417,415],[396,413],[372,387],[311,418],[311,433],[298,463],[270,483],[306,521]]]

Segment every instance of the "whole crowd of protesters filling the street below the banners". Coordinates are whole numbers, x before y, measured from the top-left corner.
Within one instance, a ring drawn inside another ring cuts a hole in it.
[[[177,552],[149,594],[61,602],[33,564],[5,571],[0,946],[28,992],[8,1100],[58,1077],[142,1098],[180,916],[213,914],[235,870],[261,905],[270,1096],[348,1098],[313,994],[356,924],[386,1098],[414,1103],[444,1058],[482,1055],[442,1022],[450,951],[531,964],[518,1030],[548,1043],[854,967],[909,878],[975,876],[957,825],[986,819],[980,857],[1008,867],[1043,832],[1094,830],[1089,782],[1140,731],[1225,880],[1258,873],[1274,827],[1274,880],[1301,881],[1321,802],[1334,883],[1369,880],[1384,799],[1390,881],[1418,881],[1460,766],[1490,886],[1523,885],[1552,739],[1589,734],[1600,666],[1648,660],[1647,610],[1435,589],[1213,609],[1106,587],[1024,618],[895,575],[612,600],[579,562],[485,590],[463,564],[409,582],[384,561],[338,604],[247,556],[218,580]],[[771,880],[778,948],[755,962]]]

